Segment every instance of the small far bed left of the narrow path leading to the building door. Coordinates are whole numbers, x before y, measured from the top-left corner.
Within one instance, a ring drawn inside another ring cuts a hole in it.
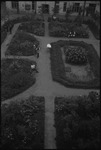
[[[41,21],[22,23],[18,30],[30,32],[38,36],[45,35],[44,23]]]

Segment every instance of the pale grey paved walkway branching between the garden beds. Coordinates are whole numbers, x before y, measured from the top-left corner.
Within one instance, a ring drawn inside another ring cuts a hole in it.
[[[47,18],[46,18],[47,19]],[[17,30],[18,25],[14,26],[14,33]],[[15,29],[16,28],[16,29]],[[9,37],[10,36],[10,37]],[[13,35],[8,35],[6,40],[1,46],[2,56],[4,58],[4,52],[7,47],[5,43],[9,43]],[[90,36],[92,37],[92,33],[90,32]],[[3,101],[3,103],[9,103],[10,101],[21,100],[28,98],[30,95],[35,96],[44,96],[45,97],[45,149],[56,149],[56,131],[54,128],[54,98],[55,96],[75,96],[75,95],[84,95],[88,94],[92,90],[85,89],[73,89],[66,88],[65,86],[54,82],[52,80],[51,75],[51,65],[50,65],[50,53],[46,48],[48,43],[58,41],[60,39],[67,40],[67,38],[53,38],[48,35],[48,22],[45,21],[45,36],[39,37],[35,36],[40,42],[40,53],[39,59],[37,60],[37,66],[39,73],[37,74],[36,83],[23,93],[8,99],[7,101]],[[82,40],[84,42],[93,44],[99,54],[99,41],[95,40],[94,37],[91,39],[72,39],[72,40]],[[28,59],[35,59],[34,57],[28,57]],[[99,90],[95,90],[99,91]]]

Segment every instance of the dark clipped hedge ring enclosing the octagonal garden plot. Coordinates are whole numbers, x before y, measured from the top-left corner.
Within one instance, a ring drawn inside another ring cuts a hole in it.
[[[60,47],[63,47],[64,45],[79,45],[82,47],[85,47],[88,53],[88,57],[91,57],[89,59],[89,63],[91,65],[92,71],[94,72],[95,79],[89,82],[71,82],[67,79],[66,73],[65,73],[65,66],[62,60],[62,52]],[[51,71],[52,71],[52,78],[54,81],[57,81],[61,84],[63,84],[66,87],[71,88],[83,88],[83,89],[99,89],[100,88],[100,61],[99,57],[97,55],[97,52],[95,51],[94,47],[85,43],[85,42],[78,42],[78,41],[58,41],[55,43],[51,43],[52,48],[50,50],[50,59],[51,59]]]

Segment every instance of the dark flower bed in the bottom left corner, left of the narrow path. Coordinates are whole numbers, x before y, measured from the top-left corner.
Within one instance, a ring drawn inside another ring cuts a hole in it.
[[[44,101],[31,96],[2,105],[2,149],[44,149]]]

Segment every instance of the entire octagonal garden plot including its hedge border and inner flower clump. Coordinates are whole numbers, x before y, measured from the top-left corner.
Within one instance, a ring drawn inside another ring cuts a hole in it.
[[[60,40],[51,45],[54,81],[72,88],[100,88],[100,59],[92,44]]]

